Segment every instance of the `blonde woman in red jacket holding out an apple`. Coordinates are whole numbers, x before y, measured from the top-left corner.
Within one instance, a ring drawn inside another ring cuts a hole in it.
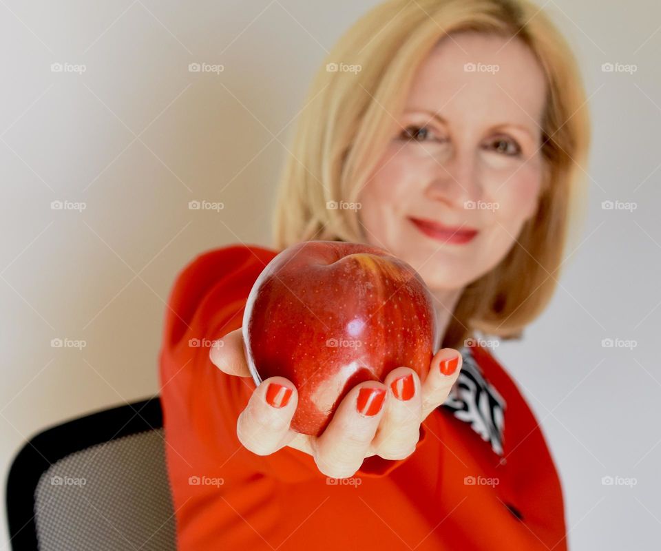
[[[209,251],[171,291],[160,377],[180,549],[567,548],[538,422],[476,337],[519,337],[554,291],[584,103],[567,44],[525,1],[391,0],[348,31],[300,116],[275,250]],[[255,388],[241,340],[253,282],[302,240],[406,260],[443,346],[424,381],[401,366],[355,386],[318,438],[289,428],[290,381]]]

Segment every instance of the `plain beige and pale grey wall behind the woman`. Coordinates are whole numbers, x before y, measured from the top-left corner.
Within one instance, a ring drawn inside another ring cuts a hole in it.
[[[36,431],[158,391],[176,273],[212,247],[269,244],[275,180],[311,74],[375,3],[0,2],[3,472]],[[589,216],[552,305],[524,342],[495,353],[543,422],[570,543],[651,548],[661,523],[661,8],[543,5],[585,71]],[[56,200],[85,210],[52,209]],[[224,209],[190,210],[191,200]],[[638,346],[605,349],[609,337]],[[54,338],[86,346],[54,348]],[[605,475],[638,484],[603,486]]]

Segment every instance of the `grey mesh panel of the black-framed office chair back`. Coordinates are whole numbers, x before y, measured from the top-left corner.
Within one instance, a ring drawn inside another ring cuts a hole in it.
[[[43,473],[34,510],[43,551],[174,550],[162,428],[67,455]]]

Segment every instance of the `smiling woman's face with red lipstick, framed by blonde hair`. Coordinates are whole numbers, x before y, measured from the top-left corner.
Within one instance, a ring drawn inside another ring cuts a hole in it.
[[[445,37],[359,194],[365,240],[406,260],[431,289],[460,289],[490,271],[536,212],[545,93],[519,39]]]

